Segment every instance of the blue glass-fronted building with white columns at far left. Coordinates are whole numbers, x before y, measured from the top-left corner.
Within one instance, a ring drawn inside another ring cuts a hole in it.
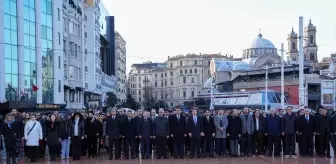
[[[0,101],[63,103],[62,1],[0,3]]]

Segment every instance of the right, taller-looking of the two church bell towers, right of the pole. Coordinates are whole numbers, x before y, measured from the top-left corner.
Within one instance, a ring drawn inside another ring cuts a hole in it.
[[[308,63],[317,63],[317,44],[316,44],[316,26],[311,23],[309,19],[309,24],[304,29],[304,60]]]

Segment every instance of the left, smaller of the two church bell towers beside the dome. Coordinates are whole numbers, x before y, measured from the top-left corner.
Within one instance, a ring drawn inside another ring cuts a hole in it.
[[[297,48],[298,36],[297,33],[294,32],[292,27],[292,31],[288,34],[287,42],[288,42],[288,50],[287,50],[287,58],[291,63],[296,63],[299,61],[299,50]]]

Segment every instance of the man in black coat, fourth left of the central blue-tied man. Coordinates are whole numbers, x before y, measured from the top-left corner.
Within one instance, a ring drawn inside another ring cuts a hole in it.
[[[127,117],[124,118],[122,123],[123,133],[123,146],[124,146],[124,157],[129,159],[129,150],[131,149],[131,158],[135,159],[135,137],[137,136],[137,120],[132,118],[132,111],[127,111]]]

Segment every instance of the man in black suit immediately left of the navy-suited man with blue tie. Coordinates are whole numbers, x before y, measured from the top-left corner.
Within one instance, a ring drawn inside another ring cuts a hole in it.
[[[176,108],[176,115],[171,116],[170,137],[174,141],[175,158],[184,158],[184,137],[187,135],[186,117],[181,114],[181,109]]]

